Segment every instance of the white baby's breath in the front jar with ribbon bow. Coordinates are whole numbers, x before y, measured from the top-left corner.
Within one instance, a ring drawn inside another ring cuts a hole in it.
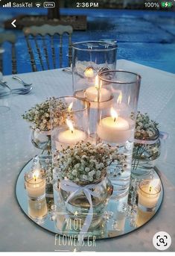
[[[89,184],[98,181],[106,174],[106,167],[114,160],[123,163],[125,156],[118,154],[118,147],[103,143],[79,142],[59,152],[54,162],[58,178],[68,178],[77,184]]]

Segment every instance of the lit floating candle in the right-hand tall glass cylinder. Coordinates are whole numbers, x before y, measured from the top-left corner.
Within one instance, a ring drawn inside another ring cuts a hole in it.
[[[109,143],[123,143],[130,138],[130,123],[111,107],[111,116],[100,120],[97,128],[98,137]]]

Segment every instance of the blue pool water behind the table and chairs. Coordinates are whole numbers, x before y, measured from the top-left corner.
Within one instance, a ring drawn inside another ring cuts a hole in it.
[[[7,10],[2,13],[0,22],[26,10]],[[33,9],[30,13],[37,13]],[[39,10],[45,13],[45,10]],[[136,10],[77,10],[62,9],[63,14],[81,14],[87,16],[87,31],[74,31],[72,41],[101,40],[112,38],[118,41],[118,59],[132,60],[156,69],[175,73],[175,13]],[[3,31],[3,28],[0,28]],[[13,30],[14,31],[14,30]],[[28,49],[21,31],[16,31],[17,70],[31,72]],[[65,44],[67,40],[65,38]],[[59,41],[55,41],[55,46]],[[4,44],[6,54],[4,75],[11,73],[10,45]],[[58,52],[57,52],[58,54]],[[67,52],[64,52],[64,66],[67,66]],[[59,62],[57,62],[59,67]],[[38,66],[39,69],[39,66]]]

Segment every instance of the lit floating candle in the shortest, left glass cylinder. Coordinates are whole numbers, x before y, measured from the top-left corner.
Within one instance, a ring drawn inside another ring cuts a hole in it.
[[[68,129],[60,131],[58,135],[59,143],[66,143],[67,145],[74,145],[81,140],[86,140],[86,133],[73,127],[71,121],[66,119]]]

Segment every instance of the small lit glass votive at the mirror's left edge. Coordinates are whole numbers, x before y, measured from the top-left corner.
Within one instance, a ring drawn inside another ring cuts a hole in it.
[[[25,174],[25,189],[31,200],[45,198],[45,175],[42,170],[31,171]]]

